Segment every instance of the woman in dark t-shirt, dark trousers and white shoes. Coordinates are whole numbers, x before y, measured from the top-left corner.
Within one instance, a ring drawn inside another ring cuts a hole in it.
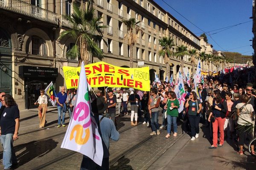
[[[202,104],[199,99],[197,99],[195,91],[191,91],[189,98],[186,101],[185,107],[188,108],[189,124],[191,126],[191,140],[194,141],[195,138],[199,136],[199,113],[202,110]]]

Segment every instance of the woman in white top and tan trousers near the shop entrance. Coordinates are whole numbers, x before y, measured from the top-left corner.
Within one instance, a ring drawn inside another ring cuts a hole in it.
[[[38,106],[38,118],[40,120],[39,123],[39,128],[42,128],[45,126],[45,117],[46,117],[46,112],[47,112],[47,96],[44,95],[44,90],[40,90],[41,96],[38,97],[37,102],[34,103],[34,105],[39,105]]]

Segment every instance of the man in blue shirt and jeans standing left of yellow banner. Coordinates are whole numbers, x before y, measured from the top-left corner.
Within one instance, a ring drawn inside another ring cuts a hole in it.
[[[62,115],[62,126],[66,127],[65,125],[65,114],[66,114],[66,100],[67,100],[67,93],[65,92],[66,88],[64,86],[61,87],[61,91],[58,92],[56,100],[57,100],[57,107],[58,107],[58,126],[61,127],[61,115]]]

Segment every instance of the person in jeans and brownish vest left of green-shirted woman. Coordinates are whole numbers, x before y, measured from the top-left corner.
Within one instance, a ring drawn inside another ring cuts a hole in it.
[[[148,100],[148,111],[151,116],[151,128],[152,133],[150,135],[160,135],[159,124],[158,124],[158,112],[160,105],[160,96],[157,95],[157,89],[153,88],[150,91],[150,98]]]

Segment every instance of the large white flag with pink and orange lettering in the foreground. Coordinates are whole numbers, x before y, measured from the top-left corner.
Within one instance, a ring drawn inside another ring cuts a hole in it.
[[[84,62],[82,62],[81,68],[83,69],[80,71],[75,109],[61,148],[82,153],[101,166],[103,159],[102,139],[96,121],[90,113],[91,105]]]

